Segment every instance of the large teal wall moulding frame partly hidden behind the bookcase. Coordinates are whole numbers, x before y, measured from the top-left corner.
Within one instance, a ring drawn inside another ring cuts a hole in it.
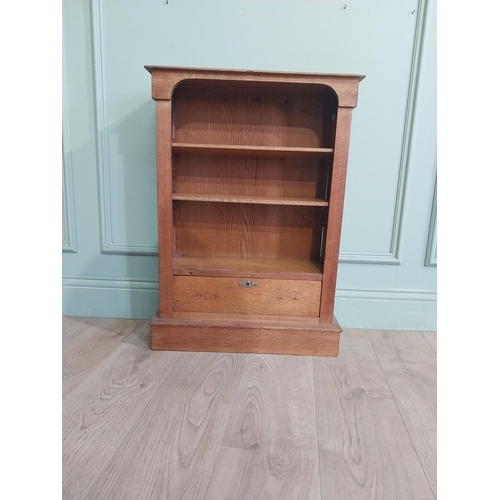
[[[403,141],[398,169],[397,192],[394,206],[389,252],[340,252],[340,263],[399,265],[401,221],[405,199],[405,185],[410,156],[411,135],[415,114],[415,98],[418,88],[418,74],[422,47],[425,12],[428,0],[418,0],[416,24],[411,58],[411,69],[404,121]],[[158,255],[157,245],[138,245],[113,241],[113,209],[111,189],[111,169],[109,136],[106,117],[106,84],[104,78],[104,54],[102,40],[102,1],[91,0],[91,33],[93,45],[93,79],[95,91],[95,120],[97,142],[97,171],[99,190],[99,219],[101,252],[125,255]]]

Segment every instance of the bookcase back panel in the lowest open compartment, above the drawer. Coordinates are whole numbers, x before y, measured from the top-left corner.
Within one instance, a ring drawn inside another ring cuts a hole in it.
[[[174,202],[174,256],[320,260],[322,207]]]

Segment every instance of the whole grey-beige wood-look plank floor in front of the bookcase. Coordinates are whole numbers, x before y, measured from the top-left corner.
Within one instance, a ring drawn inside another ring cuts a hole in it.
[[[436,498],[436,334],[345,330],[336,358],[159,352],[63,318],[63,500]]]

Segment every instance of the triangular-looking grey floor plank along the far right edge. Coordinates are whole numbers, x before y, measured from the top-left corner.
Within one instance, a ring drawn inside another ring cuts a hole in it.
[[[436,495],[436,352],[420,332],[368,331]]]

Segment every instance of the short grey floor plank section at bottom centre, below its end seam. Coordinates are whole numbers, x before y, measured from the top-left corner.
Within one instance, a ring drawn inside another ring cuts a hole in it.
[[[320,500],[318,460],[222,447],[206,500]]]

